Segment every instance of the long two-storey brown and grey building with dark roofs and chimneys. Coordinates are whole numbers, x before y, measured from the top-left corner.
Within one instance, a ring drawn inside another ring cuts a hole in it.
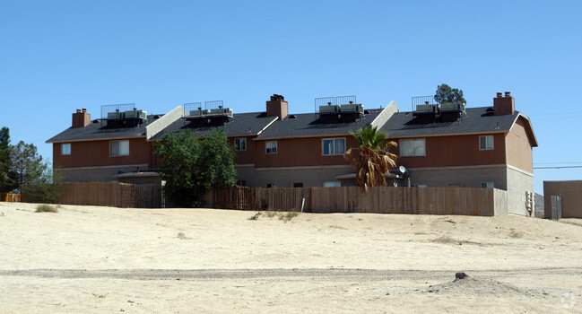
[[[236,151],[240,185],[333,187],[354,184],[354,171],[343,159],[347,149],[357,146],[350,132],[378,126],[399,144],[397,163],[410,174],[395,179],[396,184],[499,188],[508,191],[509,213],[528,214],[533,208],[528,199],[537,141],[529,118],[516,111],[509,92],[498,93],[492,106],[470,109],[426,103],[401,112],[394,102],[384,109],[364,109],[353,101],[330,102],[313,113],[289,114],[289,109],[276,94],[266,101],[265,111],[178,107],[141,119],[125,111],[133,118],[130,123],[115,115],[91,121],[83,109],[73,114],[72,127],[48,143],[53,144],[56,168],[69,181],[160,182],[156,170],[161,161],[153,156],[153,141],[181,129],[204,135],[221,127]]]

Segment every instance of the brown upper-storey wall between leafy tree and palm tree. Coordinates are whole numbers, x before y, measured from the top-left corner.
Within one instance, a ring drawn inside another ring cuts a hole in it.
[[[346,150],[358,147],[358,141],[352,135],[285,138],[274,140],[277,141],[277,153],[267,154],[265,143],[269,141],[255,141],[256,168],[349,165],[343,154],[323,155],[322,141],[327,138],[345,138]]]

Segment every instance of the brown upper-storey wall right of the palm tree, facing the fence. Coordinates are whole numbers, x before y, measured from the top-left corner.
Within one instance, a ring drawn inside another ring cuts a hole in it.
[[[505,163],[505,135],[493,134],[493,149],[479,150],[480,135],[419,137],[425,139],[426,155],[399,157],[396,163],[406,168],[455,167]],[[399,144],[399,138],[392,138]],[[400,155],[398,147],[392,150]]]

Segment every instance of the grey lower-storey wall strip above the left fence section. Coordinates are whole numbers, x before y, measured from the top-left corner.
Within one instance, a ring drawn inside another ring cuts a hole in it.
[[[80,167],[62,168],[55,171],[65,173],[65,182],[117,182],[115,175],[121,172],[132,172],[140,167],[142,170],[148,168],[148,164],[135,164],[126,166],[103,166],[103,167]]]

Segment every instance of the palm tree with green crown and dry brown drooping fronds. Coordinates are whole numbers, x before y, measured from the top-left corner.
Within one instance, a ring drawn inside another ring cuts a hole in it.
[[[358,140],[359,150],[350,148],[343,154],[356,171],[356,181],[368,191],[368,188],[386,186],[384,174],[396,166],[396,155],[388,152],[394,141],[388,140],[388,135],[378,132],[378,126],[365,126],[358,132],[350,134]]]

